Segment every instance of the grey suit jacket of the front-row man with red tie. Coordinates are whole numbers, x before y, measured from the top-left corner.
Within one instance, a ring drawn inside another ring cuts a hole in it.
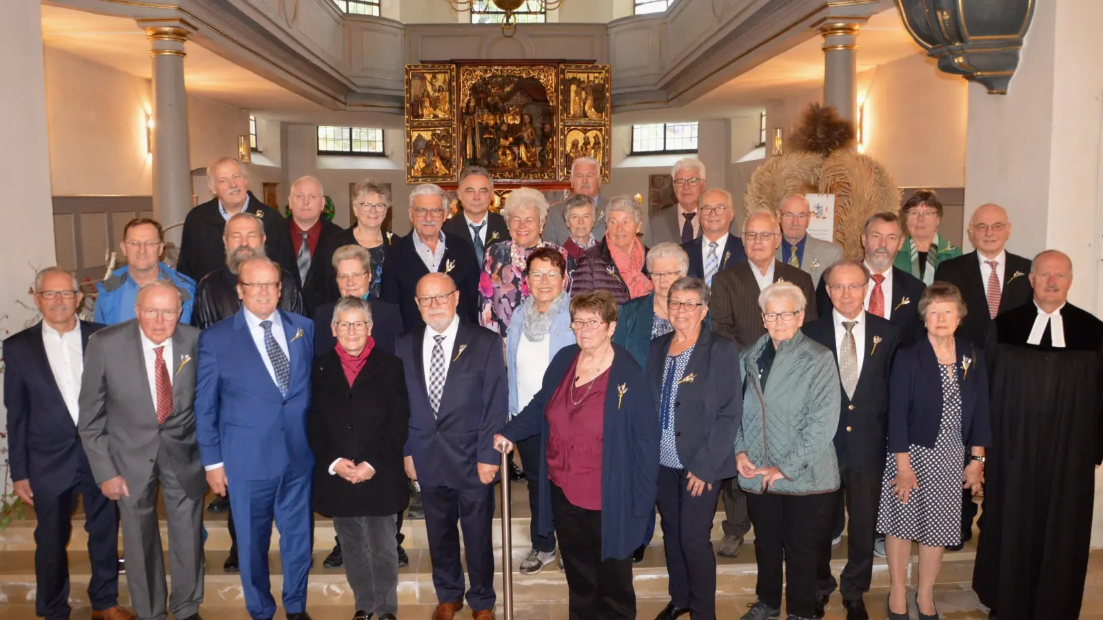
[[[178,324],[172,334],[172,415],[157,424],[138,320],[104,328],[88,339],[81,382],[77,427],[96,482],[122,475],[135,502],[164,450],[188,496],[206,492],[206,474],[195,441],[195,368],[200,330]],[[189,356],[185,362],[184,356]]]

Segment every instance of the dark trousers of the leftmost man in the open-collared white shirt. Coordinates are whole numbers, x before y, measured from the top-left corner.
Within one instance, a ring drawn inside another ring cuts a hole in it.
[[[34,610],[46,620],[69,617],[68,546],[77,495],[84,495],[84,528],[88,533],[88,601],[97,611],[119,600],[119,513],[99,490],[92,470],[82,466],[73,485],[64,491],[34,487]]]

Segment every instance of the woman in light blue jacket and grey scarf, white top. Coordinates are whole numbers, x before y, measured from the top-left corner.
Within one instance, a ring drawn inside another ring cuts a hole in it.
[[[539,248],[525,264],[525,301],[518,307],[505,332],[505,363],[510,371],[510,417],[517,415],[533,399],[544,382],[544,372],[555,354],[575,344],[570,329],[570,296],[567,293],[567,263],[555,248]],[[555,532],[540,535],[539,466],[544,448],[539,435],[517,442],[521,463],[528,479],[528,506],[532,509],[533,548],[521,563],[523,575],[539,573],[555,559]]]

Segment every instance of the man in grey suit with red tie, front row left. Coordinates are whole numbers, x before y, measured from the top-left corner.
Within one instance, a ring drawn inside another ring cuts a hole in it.
[[[81,441],[104,495],[118,502],[127,587],[139,620],[167,616],[158,485],[169,522],[169,608],[179,620],[199,620],[203,602],[206,477],[192,409],[200,330],[178,324],[180,310],[180,291],[170,281],[142,286],[135,319],[88,339],[81,383]]]

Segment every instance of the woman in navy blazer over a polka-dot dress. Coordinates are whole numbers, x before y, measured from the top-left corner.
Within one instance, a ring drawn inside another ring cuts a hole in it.
[[[976,493],[984,480],[992,445],[988,375],[984,352],[954,335],[965,312],[957,287],[928,287],[919,300],[928,336],[897,352],[889,376],[889,455],[877,525],[886,533],[893,620],[908,617],[912,541],[919,543],[919,617],[938,618],[934,581],[944,547],[961,543],[961,489]]]

